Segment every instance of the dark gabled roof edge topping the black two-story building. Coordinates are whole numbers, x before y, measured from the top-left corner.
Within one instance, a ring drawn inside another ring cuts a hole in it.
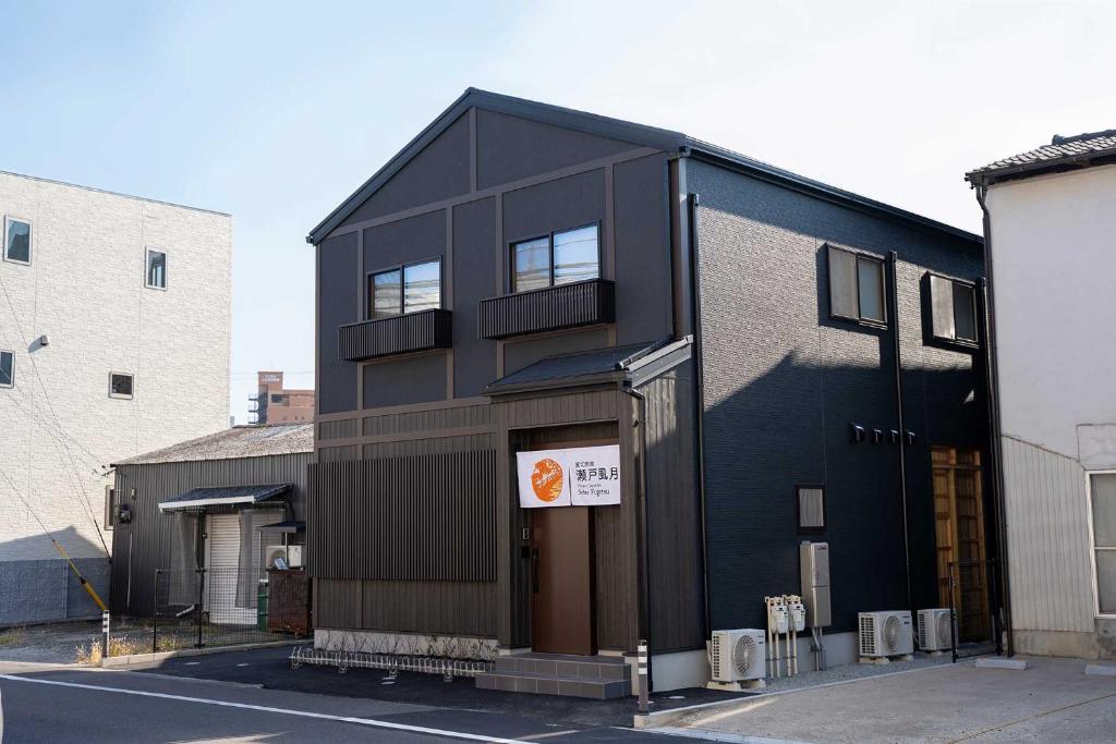
[[[686,136],[681,132],[661,129],[634,122],[614,119],[587,112],[541,104],[525,98],[514,98],[478,88],[469,88],[425,129],[420,132],[419,136],[407,143],[384,167],[377,171],[375,175],[341,202],[337,209],[330,212],[325,220],[318,223],[310,231],[310,234],[307,235],[306,242],[320,243],[326,235],[348,219],[360,204],[367,201],[392,176],[398,173],[403,166],[419,155],[426,145],[449,128],[462,114],[473,107],[519,116],[542,124],[551,124],[612,139],[629,142],[634,146],[653,147],[663,152],[699,157],[860,212],[899,220],[907,224],[935,232],[944,232],[954,238],[972,241],[974,244],[981,241],[979,235],[959,230],[943,222],[931,220],[921,214],[901,210],[896,206],[891,206],[889,204],[877,202],[841,189],[836,189],[820,181],[797,175],[762,161],[734,153],[731,149],[718,147],[716,145]]]

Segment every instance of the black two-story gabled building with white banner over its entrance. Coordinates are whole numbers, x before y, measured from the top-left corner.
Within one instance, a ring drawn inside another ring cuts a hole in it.
[[[829,543],[830,663],[858,611],[946,607],[950,564],[994,553],[975,235],[470,89],[308,241],[321,646],[647,639],[665,689],[799,592],[802,541]],[[559,472],[576,495],[585,452],[615,457],[593,492],[615,499],[540,504]],[[974,635],[982,571],[954,597]]]

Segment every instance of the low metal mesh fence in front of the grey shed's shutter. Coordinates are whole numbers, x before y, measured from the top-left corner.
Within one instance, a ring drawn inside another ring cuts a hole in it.
[[[301,638],[311,632],[305,571],[155,571],[153,651]]]

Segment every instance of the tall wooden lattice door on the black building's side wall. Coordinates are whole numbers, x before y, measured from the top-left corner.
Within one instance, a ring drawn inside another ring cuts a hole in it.
[[[988,640],[991,628],[980,451],[934,446],[931,458],[939,601],[942,607],[950,607],[950,563],[953,563],[958,578],[953,607],[958,611],[959,640]]]

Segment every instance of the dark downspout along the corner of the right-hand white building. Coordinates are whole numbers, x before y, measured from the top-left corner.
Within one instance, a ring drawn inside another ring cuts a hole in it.
[[[1003,504],[1003,448],[1000,437],[1000,387],[998,384],[997,346],[995,346],[995,306],[993,302],[992,279],[992,215],[988,211],[987,184],[973,184],[977,191],[977,203],[982,213],[981,225],[984,232],[984,273],[988,278],[981,282],[984,300],[984,375],[988,395],[989,451],[992,455],[992,497],[995,500],[995,552],[997,567],[1000,574],[1000,606],[1003,608],[1003,630],[1007,636],[1007,654],[1014,656],[1016,642],[1011,632],[1011,584],[1008,578],[1008,522]],[[999,639],[997,639],[999,646]]]

